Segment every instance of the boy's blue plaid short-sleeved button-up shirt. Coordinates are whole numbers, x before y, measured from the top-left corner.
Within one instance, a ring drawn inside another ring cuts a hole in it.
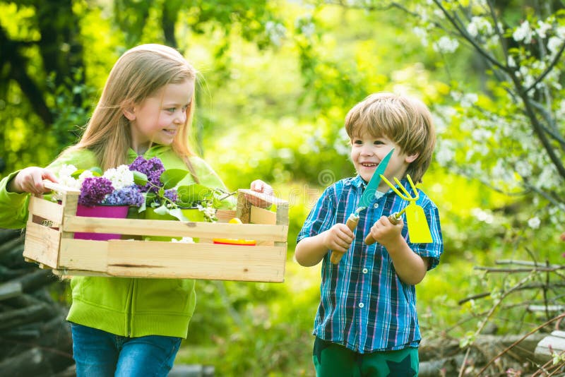
[[[412,196],[406,179],[400,182]],[[357,209],[365,184],[360,176],[347,178],[326,188],[312,208],[297,241],[330,229]],[[408,227],[402,230],[410,249],[429,258],[429,269],[436,267],[444,250],[436,205],[422,192],[416,202],[424,209],[432,244],[412,244]],[[417,347],[421,340],[416,313],[416,290],[396,275],[391,257],[379,243],[367,246],[364,237],[382,215],[399,212],[408,201],[389,190],[374,198],[359,213],[355,240],[338,265],[327,253],[321,268],[321,300],[314,321],[314,335],[338,343],[361,354]]]

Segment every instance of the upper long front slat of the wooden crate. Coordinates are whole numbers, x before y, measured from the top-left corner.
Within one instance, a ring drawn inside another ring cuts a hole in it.
[[[174,220],[110,219],[65,216],[65,232],[116,233],[140,236],[202,237],[286,241],[287,225],[222,224]]]

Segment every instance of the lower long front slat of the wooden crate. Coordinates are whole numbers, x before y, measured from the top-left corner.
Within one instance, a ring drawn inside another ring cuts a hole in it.
[[[93,275],[121,277],[283,282],[286,252],[275,246],[68,239],[61,242],[66,256],[59,270],[66,275],[72,270],[88,275],[84,270],[92,270]]]

